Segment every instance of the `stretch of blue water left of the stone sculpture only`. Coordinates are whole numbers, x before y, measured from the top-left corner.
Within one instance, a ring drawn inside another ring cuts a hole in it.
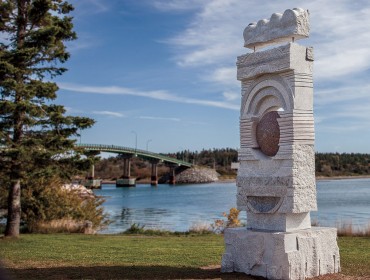
[[[137,185],[94,190],[113,223],[102,233],[122,232],[136,223],[145,228],[187,231],[197,224],[211,224],[235,207],[235,183],[201,185]],[[241,215],[245,222],[245,214]]]

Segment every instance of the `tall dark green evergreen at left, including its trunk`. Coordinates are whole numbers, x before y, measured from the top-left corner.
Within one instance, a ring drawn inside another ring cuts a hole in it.
[[[0,169],[8,182],[6,236],[19,235],[21,186],[32,176],[69,176],[89,118],[65,116],[50,80],[66,71],[65,42],[76,39],[72,5],[63,0],[0,2]]]

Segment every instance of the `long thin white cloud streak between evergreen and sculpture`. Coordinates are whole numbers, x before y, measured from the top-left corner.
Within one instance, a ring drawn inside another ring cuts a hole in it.
[[[117,87],[117,86],[107,86],[107,87],[94,87],[94,86],[84,86],[69,83],[58,83],[60,89],[80,92],[80,93],[95,93],[95,94],[108,94],[108,95],[133,95],[139,97],[146,97],[157,100],[172,101],[185,104],[196,104],[208,107],[218,107],[231,110],[239,110],[239,105],[214,100],[202,100],[187,98],[182,96],[177,96],[171,94],[165,90],[154,90],[154,91],[140,91],[137,89]]]

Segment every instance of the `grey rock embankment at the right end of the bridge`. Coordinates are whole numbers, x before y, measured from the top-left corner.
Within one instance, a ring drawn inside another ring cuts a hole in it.
[[[199,184],[212,183],[218,181],[220,176],[216,170],[205,167],[188,168],[176,175],[176,183],[178,184]]]

